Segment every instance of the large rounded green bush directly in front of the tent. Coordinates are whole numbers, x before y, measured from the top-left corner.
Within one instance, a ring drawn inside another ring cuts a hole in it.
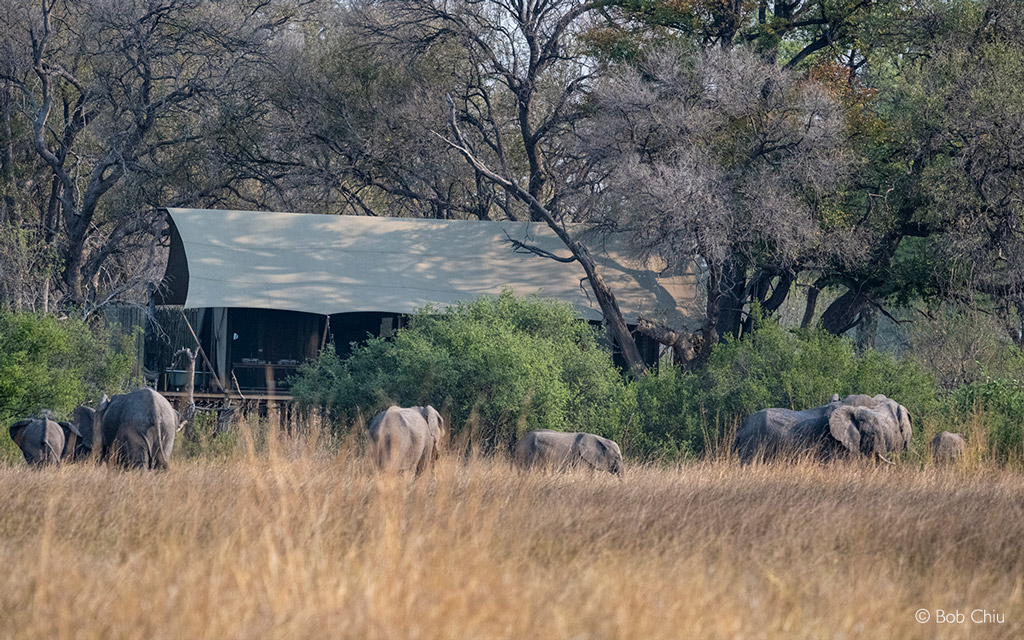
[[[586,430],[618,438],[633,400],[597,332],[563,303],[496,298],[423,309],[391,339],[374,338],[340,358],[328,348],[293,384],[304,407],[337,424],[368,420],[390,403],[433,404],[485,449],[532,429]]]

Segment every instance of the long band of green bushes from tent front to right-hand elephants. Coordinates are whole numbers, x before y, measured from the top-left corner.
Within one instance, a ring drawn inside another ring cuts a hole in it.
[[[371,339],[347,359],[328,349],[293,389],[338,423],[357,413],[369,420],[392,402],[430,403],[447,409],[455,433],[478,428],[487,445],[531,429],[585,430],[634,458],[660,460],[721,451],[749,414],[808,409],[833,393],[884,393],[914,415],[938,408],[935,384],[915,362],[774,323],[717,345],[698,372],[664,367],[627,382],[571,308],[510,293],[421,311],[392,340]]]

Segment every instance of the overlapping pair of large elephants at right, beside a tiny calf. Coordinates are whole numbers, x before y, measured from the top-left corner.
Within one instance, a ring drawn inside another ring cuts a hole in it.
[[[836,396],[833,396],[834,398]],[[733,451],[740,462],[757,456],[809,453],[830,460],[848,455],[885,457],[905,451],[913,423],[905,407],[884,395],[849,395],[805,411],[764,409],[736,432]]]

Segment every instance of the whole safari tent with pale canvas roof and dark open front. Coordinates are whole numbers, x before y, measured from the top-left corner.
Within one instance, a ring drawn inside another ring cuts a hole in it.
[[[568,256],[537,222],[168,209],[170,253],[146,324],[144,373],[174,397],[185,376],[174,352],[199,341],[196,399],[284,401],[289,378],[330,342],[339,353],[389,336],[407,314],[498,295],[562,300],[602,318],[583,268],[516,248]],[[588,246],[631,326],[638,315],[687,326],[698,314],[692,272],[663,273],[629,259],[622,239]],[[638,335],[645,359],[659,345]]]

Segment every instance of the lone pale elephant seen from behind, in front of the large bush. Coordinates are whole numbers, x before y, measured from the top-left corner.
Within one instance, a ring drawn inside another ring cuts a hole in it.
[[[440,457],[444,419],[433,407],[390,407],[370,423],[370,456],[381,471],[423,473]]]

